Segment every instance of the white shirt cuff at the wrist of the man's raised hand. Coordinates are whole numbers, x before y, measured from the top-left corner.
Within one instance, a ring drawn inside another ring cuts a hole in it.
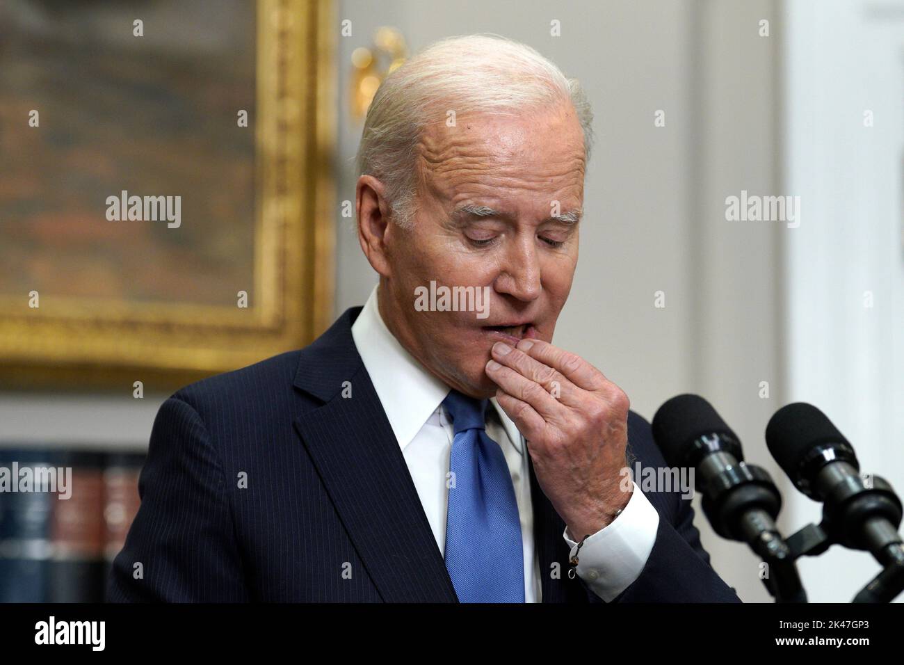
[[[653,551],[659,513],[634,483],[626,507],[613,522],[584,541],[578,556],[578,575],[607,603],[634,584]],[[568,527],[562,533],[574,556],[578,548]]]

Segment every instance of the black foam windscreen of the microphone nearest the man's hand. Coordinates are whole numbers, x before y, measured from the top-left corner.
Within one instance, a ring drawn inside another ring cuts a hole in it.
[[[679,394],[660,406],[653,416],[653,438],[665,461],[673,467],[687,466],[687,456],[694,451],[692,443],[713,433],[728,434],[738,441],[712,404],[698,394]]]

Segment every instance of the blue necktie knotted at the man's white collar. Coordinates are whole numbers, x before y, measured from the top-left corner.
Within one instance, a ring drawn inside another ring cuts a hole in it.
[[[505,454],[485,431],[489,401],[453,390],[443,404],[455,429],[445,557],[458,600],[523,603],[521,518]]]

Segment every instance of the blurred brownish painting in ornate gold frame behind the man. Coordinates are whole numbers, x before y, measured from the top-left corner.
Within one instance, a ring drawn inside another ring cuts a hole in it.
[[[332,9],[0,7],[0,382],[181,385],[328,325]]]

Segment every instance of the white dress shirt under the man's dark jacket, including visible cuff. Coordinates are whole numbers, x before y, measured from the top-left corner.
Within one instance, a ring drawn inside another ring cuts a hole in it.
[[[354,345],[399,442],[439,551],[444,553],[446,482],[455,432],[442,401],[450,388],[420,365],[386,328],[377,307],[377,288],[373,288],[352,326]],[[495,398],[490,401],[494,410],[487,418],[486,433],[505,453],[521,517],[524,599],[527,603],[540,603],[541,570],[533,542],[530,453],[512,419]],[[658,527],[659,514],[635,484],[622,514],[587,538],[580,548],[578,575],[600,598],[611,601],[643,571]],[[570,538],[568,528],[562,537],[573,556],[578,544]],[[550,571],[542,573],[551,574]],[[566,571],[560,571],[560,575],[565,574]]]

